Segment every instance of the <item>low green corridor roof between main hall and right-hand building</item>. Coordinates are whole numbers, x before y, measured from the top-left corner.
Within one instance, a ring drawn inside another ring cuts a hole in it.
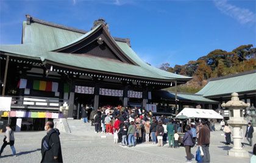
[[[164,90],[159,90],[159,91],[154,91],[153,95],[155,97],[160,97],[163,100],[175,100],[175,92],[171,91],[164,91]],[[190,101],[190,102],[197,102],[197,103],[219,103],[215,100],[210,100],[205,97],[202,97],[202,95],[199,94],[190,94],[190,93],[185,93],[185,92],[177,92],[177,99],[182,101]]]

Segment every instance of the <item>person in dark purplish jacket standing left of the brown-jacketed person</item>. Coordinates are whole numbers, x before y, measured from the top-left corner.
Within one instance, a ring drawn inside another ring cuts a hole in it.
[[[183,137],[183,145],[185,147],[186,153],[187,153],[187,162],[191,162],[192,159],[192,154],[191,154],[191,147],[193,147],[194,143],[193,143],[193,134],[190,131],[190,126],[187,125],[185,127],[186,133]]]

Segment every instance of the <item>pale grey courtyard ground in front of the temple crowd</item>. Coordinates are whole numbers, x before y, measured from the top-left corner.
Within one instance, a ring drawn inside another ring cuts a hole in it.
[[[17,157],[12,157],[10,147],[2,153],[0,162],[40,162],[40,142],[44,132],[15,133]],[[0,134],[3,137],[4,134]],[[255,136],[256,137],[256,136]],[[249,162],[249,158],[232,158],[227,150],[232,148],[222,144],[224,136],[220,131],[211,133],[211,162]],[[156,147],[152,144],[139,144],[136,147],[121,147],[113,144],[112,136],[101,138],[94,133],[61,134],[64,162],[185,162],[185,148]],[[254,142],[256,140],[254,139]],[[252,147],[244,147],[251,156]],[[192,148],[196,153],[196,148]],[[194,161],[193,159],[193,162]]]

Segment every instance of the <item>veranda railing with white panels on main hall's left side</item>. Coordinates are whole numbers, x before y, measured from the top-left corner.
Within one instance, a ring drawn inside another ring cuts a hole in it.
[[[68,103],[68,100],[59,98],[48,97],[33,97],[33,96],[6,96],[12,97],[11,108],[30,108],[30,109],[58,109],[64,102]]]

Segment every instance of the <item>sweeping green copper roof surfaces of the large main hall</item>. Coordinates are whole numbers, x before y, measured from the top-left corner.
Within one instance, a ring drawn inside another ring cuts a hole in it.
[[[30,19],[30,21],[33,19]],[[41,23],[39,19],[36,19],[34,22],[31,21],[30,23],[24,22],[23,44],[0,45],[0,51],[24,57],[40,58],[46,63],[58,63],[86,70],[112,72],[165,81],[174,80],[176,78],[184,81],[191,79],[191,77],[172,74],[171,72],[162,71],[161,69],[157,69],[144,63],[124,40],[116,41],[118,39],[113,39],[116,46],[118,46],[118,48],[137,65],[122,63],[121,61],[110,60],[107,58],[93,57],[90,55],[54,52],[56,49],[69,46],[77,43],[77,41],[87,38],[87,36],[90,36],[90,34],[97,28],[87,33],[81,33],[80,31],[69,30],[68,27],[59,27],[56,24],[42,22],[43,23]]]

